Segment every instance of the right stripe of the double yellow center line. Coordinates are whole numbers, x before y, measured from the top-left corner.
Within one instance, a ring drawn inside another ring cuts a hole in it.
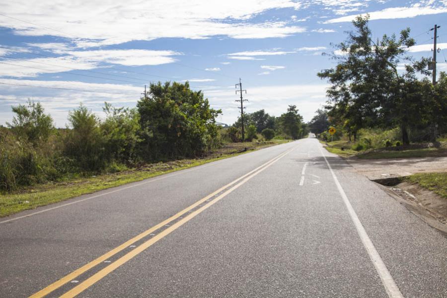
[[[149,246],[151,246],[152,244],[154,244],[158,240],[160,240],[163,237],[165,237],[166,235],[170,234],[171,232],[173,232],[174,230],[176,230],[177,228],[179,228],[183,224],[189,222],[191,219],[193,219],[194,217],[196,217],[197,215],[202,213],[204,210],[208,209],[210,206],[216,204],[218,201],[220,201],[226,195],[231,193],[233,190],[235,190],[236,188],[238,188],[239,186],[241,186],[242,184],[244,184],[245,182],[247,182],[248,180],[250,180],[251,178],[253,178],[257,174],[259,174],[260,172],[262,172],[263,170],[265,170],[266,168],[268,168],[269,166],[274,164],[276,161],[278,161],[279,159],[284,157],[286,154],[288,154],[292,150],[293,149],[290,149],[290,150],[284,152],[283,154],[277,156],[276,158],[273,159],[273,161],[271,161],[270,163],[268,163],[266,166],[264,166],[263,168],[259,169],[258,171],[252,173],[248,177],[247,177],[247,175],[244,175],[246,178],[243,179],[241,182],[239,182],[236,185],[232,186],[230,189],[226,190],[223,194],[221,194],[220,196],[216,197],[214,200],[210,201],[209,203],[207,203],[206,205],[204,205],[201,208],[197,209],[196,211],[192,212],[191,214],[189,214],[188,216],[186,216],[182,220],[180,220],[180,221],[176,222],[175,224],[169,226],[168,228],[164,229],[163,231],[161,231],[157,235],[153,236],[152,238],[150,238],[146,242],[142,243],[140,246],[136,247],[131,252],[125,254],[124,256],[122,256],[121,258],[119,258],[118,260],[116,260],[115,262],[110,264],[109,266],[101,269],[100,271],[98,271],[97,273],[95,273],[94,275],[92,275],[91,277],[86,279],[84,282],[80,283],[79,285],[74,287],[72,290],[70,290],[67,293],[65,293],[64,295],[62,295],[61,298],[72,298],[72,297],[75,297],[75,296],[79,295],[81,292],[83,292],[84,290],[89,288],[91,285],[93,285],[94,283],[98,282],[103,277],[105,277],[106,275],[108,275],[109,273],[111,273],[112,271],[114,271],[115,269],[120,267],[121,265],[125,264],[126,262],[128,262],[129,260],[131,260],[132,258],[137,256],[138,254],[140,254],[142,251],[147,249]]]

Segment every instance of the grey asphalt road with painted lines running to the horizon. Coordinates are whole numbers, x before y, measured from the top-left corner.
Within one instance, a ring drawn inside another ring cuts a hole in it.
[[[304,139],[0,219],[0,297],[447,298],[447,238],[348,167]]]

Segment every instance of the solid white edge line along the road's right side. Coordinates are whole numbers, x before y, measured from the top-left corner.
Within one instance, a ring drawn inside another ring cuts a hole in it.
[[[354,208],[352,207],[351,203],[348,200],[348,197],[346,196],[345,191],[343,190],[343,187],[341,186],[340,182],[337,179],[337,176],[335,175],[334,171],[332,170],[331,165],[329,164],[329,161],[327,160],[326,156],[324,155],[323,151],[321,150],[321,147],[318,146],[320,149],[321,155],[323,156],[324,160],[326,161],[327,166],[329,167],[329,170],[332,174],[332,177],[334,178],[335,184],[337,185],[338,191],[343,198],[343,202],[346,205],[346,208],[348,209],[348,213],[351,216],[351,219],[357,229],[357,232],[360,236],[360,239],[363,242],[363,245],[365,246],[365,249],[368,252],[368,255],[370,256],[371,261],[373,262],[373,265],[375,267],[375,270],[377,271],[377,274],[379,275],[382,284],[385,288],[386,293],[388,294],[389,298],[403,298],[402,293],[400,293],[399,288],[397,287],[396,283],[394,282],[393,278],[391,277],[391,274],[389,273],[388,269],[385,266],[385,263],[383,263],[382,258],[378,254],[377,250],[374,247],[373,242],[371,241],[370,237],[368,236],[363,224],[360,222],[359,217],[357,216],[356,212],[354,211]]]

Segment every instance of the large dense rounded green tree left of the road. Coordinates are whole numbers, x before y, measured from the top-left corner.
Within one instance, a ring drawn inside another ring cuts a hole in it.
[[[202,91],[189,83],[151,83],[149,96],[137,103],[143,130],[141,150],[148,159],[192,157],[214,146],[221,110],[210,108]]]

